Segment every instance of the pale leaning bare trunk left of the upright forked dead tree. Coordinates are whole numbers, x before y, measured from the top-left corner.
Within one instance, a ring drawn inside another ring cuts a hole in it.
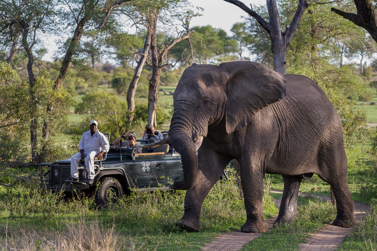
[[[135,100],[133,97],[135,97],[136,88],[138,87],[138,81],[140,79],[141,71],[143,70],[145,61],[147,60],[148,53],[150,48],[150,30],[147,31],[147,35],[145,38],[143,53],[140,56],[140,59],[138,61],[138,64],[135,68],[135,73],[133,74],[133,78],[130,82],[130,86],[128,87],[127,91],[127,108],[129,111],[131,111],[130,115],[130,121],[133,120],[133,111],[135,110]]]

